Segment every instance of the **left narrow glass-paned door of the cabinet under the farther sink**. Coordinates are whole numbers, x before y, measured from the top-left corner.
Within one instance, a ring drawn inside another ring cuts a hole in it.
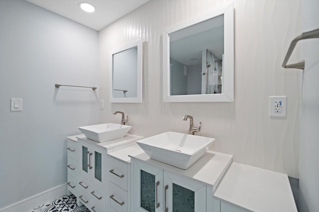
[[[89,181],[92,180],[92,169],[93,169],[93,152],[90,151],[90,143],[79,140],[79,159],[78,159],[78,167],[80,169],[80,174],[87,178]]]

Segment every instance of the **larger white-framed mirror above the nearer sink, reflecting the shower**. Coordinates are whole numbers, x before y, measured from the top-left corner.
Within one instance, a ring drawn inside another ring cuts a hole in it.
[[[234,6],[163,30],[163,101],[234,101]]]

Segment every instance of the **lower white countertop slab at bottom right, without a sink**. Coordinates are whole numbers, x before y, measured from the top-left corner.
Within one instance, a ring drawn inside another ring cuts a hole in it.
[[[286,174],[235,162],[214,197],[254,212],[297,212]]]

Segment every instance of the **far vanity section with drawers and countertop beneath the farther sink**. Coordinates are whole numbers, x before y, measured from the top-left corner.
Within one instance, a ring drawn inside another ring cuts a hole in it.
[[[84,135],[67,138],[68,194],[74,194],[77,204],[91,212],[108,211],[107,153],[131,146],[143,137],[126,135],[107,142],[92,141]]]

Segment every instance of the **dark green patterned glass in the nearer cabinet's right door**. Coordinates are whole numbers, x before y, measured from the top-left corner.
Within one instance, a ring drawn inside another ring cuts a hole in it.
[[[195,192],[173,183],[173,212],[195,212]]]

